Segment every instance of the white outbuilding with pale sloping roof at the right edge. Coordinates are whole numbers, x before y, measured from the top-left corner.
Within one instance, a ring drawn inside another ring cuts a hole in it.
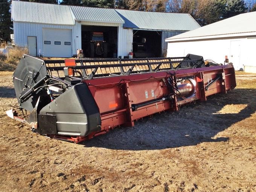
[[[224,63],[225,56],[235,70],[256,72],[256,12],[236,15],[166,39],[167,56],[201,55]]]

